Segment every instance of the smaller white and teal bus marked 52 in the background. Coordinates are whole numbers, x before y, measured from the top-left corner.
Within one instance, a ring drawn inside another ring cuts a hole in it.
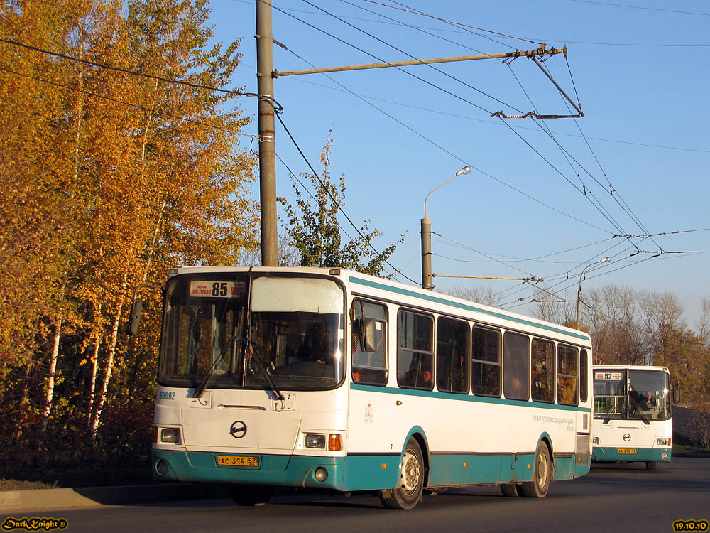
[[[594,365],[594,461],[670,462],[672,417],[666,367]],[[676,399],[677,401],[677,399]]]

